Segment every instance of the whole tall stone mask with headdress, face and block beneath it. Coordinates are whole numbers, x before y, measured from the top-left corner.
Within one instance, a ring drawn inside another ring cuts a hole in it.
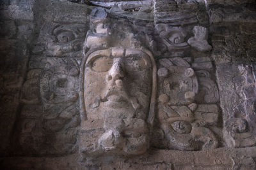
[[[145,153],[156,98],[156,63],[142,47],[146,36],[116,20],[92,20],[80,70],[80,152],[86,157]]]

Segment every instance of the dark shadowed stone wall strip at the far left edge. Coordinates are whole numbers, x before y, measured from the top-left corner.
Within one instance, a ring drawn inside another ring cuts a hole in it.
[[[26,78],[29,46],[33,39],[34,1],[1,3],[1,155],[8,155],[15,120],[20,110],[19,94]]]

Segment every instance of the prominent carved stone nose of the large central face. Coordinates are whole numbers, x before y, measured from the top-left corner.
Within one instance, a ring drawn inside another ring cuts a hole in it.
[[[124,63],[121,58],[113,59],[113,66],[108,71],[107,81],[111,86],[122,87],[122,78],[124,78]]]

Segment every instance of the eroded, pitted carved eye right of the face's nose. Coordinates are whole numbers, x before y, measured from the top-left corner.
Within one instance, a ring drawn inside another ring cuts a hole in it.
[[[146,63],[143,57],[137,57],[137,56],[126,57],[124,64],[125,64],[125,70],[140,71],[146,67]]]

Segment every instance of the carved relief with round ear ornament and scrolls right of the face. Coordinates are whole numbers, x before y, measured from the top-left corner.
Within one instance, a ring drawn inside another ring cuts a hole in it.
[[[217,148],[219,140],[216,134],[221,132],[218,128],[220,112],[214,103],[219,97],[210,73],[206,70],[194,71],[186,60],[179,57],[160,59],[159,62],[165,66],[158,70],[158,117],[159,126],[167,139],[166,148]]]

